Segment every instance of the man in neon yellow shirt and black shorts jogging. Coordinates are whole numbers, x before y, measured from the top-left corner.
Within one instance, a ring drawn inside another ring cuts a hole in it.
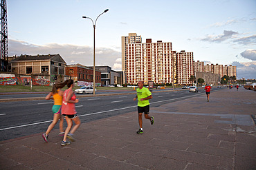
[[[150,120],[151,125],[154,124],[154,117],[149,116],[149,99],[153,98],[152,93],[143,85],[143,81],[138,82],[137,95],[134,98],[134,101],[138,98],[138,124],[140,129],[138,129],[137,134],[143,133],[143,112],[145,118]]]

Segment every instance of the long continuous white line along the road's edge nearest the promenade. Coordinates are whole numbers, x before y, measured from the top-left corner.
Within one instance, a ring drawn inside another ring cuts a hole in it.
[[[199,95],[201,95],[201,94],[195,94],[193,96],[199,96]],[[183,97],[180,97],[180,98],[190,98],[190,97],[192,97],[192,96],[183,96]],[[179,99],[179,98],[172,98],[172,99],[168,99],[168,100],[161,100],[161,101],[157,101],[157,102],[152,102],[151,104],[161,103],[161,102],[171,101],[171,100],[176,100],[176,99]],[[129,107],[122,107],[120,109],[112,109],[112,110],[107,110],[107,111],[99,111],[99,112],[95,112],[95,113],[91,113],[91,114],[82,114],[82,115],[79,115],[79,116],[82,117],[82,116],[90,116],[90,115],[94,115],[94,114],[103,114],[103,113],[107,113],[107,112],[110,112],[110,111],[129,109],[129,108],[132,108],[132,107],[138,107],[138,106],[134,105],[134,106],[129,106]],[[18,127],[28,127],[28,126],[31,126],[31,125],[39,125],[39,124],[42,124],[42,123],[49,123],[49,122],[52,122],[52,121],[53,120],[48,120],[48,121],[44,121],[44,122],[40,122],[40,123],[31,123],[31,124],[20,125],[20,126],[16,126],[16,127],[6,127],[6,128],[3,128],[3,129],[0,129],[0,131],[8,130],[8,129],[15,129],[15,128],[18,128]]]

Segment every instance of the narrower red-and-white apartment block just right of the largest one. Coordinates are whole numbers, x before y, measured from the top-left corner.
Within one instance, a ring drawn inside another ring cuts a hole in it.
[[[176,53],[176,78],[177,83],[182,85],[191,84],[190,76],[194,75],[193,52],[185,50]]]

